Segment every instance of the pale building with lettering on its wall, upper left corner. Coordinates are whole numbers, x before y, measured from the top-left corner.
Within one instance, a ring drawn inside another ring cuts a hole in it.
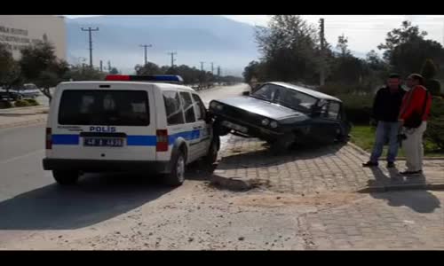
[[[67,58],[65,19],[52,15],[0,15],[0,43],[6,43],[14,59],[20,49],[47,40],[55,47],[59,59]]]

